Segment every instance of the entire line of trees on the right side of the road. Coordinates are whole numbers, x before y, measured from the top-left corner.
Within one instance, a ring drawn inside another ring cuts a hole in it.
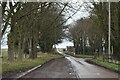
[[[97,54],[108,59],[108,3],[94,2],[90,16],[77,20],[69,29],[76,54]],[[120,2],[111,2],[111,59],[120,58]]]

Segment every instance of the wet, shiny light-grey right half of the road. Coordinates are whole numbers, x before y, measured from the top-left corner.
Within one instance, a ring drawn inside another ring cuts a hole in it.
[[[118,78],[118,74],[105,68],[89,64],[85,59],[66,56],[79,78]]]

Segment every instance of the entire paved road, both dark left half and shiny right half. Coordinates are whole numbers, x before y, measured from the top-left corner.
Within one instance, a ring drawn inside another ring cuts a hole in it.
[[[105,68],[89,64],[83,58],[75,58],[65,55],[65,58],[53,60],[46,63],[35,71],[25,75],[23,78],[111,78],[118,80],[118,74]],[[105,79],[106,80],[106,79]]]

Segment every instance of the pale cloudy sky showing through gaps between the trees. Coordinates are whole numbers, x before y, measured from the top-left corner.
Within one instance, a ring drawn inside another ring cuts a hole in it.
[[[79,1],[79,3],[77,2],[78,0],[71,0],[73,3],[75,3],[75,5],[73,5],[75,8],[78,7],[76,5],[79,5],[81,4],[82,2]],[[76,3],[77,2],[77,3]],[[77,21],[78,19],[80,18],[83,18],[83,17],[87,17],[89,16],[89,13],[86,11],[84,12],[83,11],[84,8],[81,8],[80,11],[78,11],[74,16],[72,16],[72,18],[70,18],[68,21],[67,21],[67,24],[72,24],[74,23],[75,21]],[[73,13],[70,12],[70,15],[72,15]],[[6,36],[5,36],[6,37]],[[4,42],[2,42],[2,45],[1,45],[1,48],[8,48],[7,46],[7,39],[4,38],[3,40]],[[62,43],[56,45],[57,48],[66,48],[66,46],[73,46],[73,43],[72,42],[69,42],[67,41],[66,39],[63,40]]]

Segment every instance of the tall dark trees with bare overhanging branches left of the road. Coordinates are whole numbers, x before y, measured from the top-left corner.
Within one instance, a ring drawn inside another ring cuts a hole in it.
[[[38,50],[54,52],[53,45],[61,43],[65,37],[66,22],[73,14],[65,17],[66,11],[73,7],[62,2],[1,2],[2,33],[6,34],[8,44],[8,60],[22,60],[23,55],[37,57]]]

